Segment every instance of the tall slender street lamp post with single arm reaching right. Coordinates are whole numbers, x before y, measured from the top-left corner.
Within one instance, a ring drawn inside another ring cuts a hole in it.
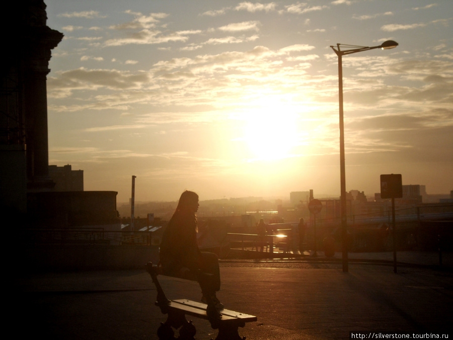
[[[341,47],[344,46],[347,49],[341,50]],[[342,66],[342,57],[343,55],[368,51],[370,49],[381,48],[381,49],[390,49],[398,46],[398,43],[393,40],[387,40],[379,46],[355,46],[355,45],[345,45],[337,44],[337,48],[334,46],[332,49],[338,56],[338,102],[340,109],[340,188],[341,188],[341,244],[342,244],[342,263],[343,271],[348,272],[348,248],[347,248],[347,220],[346,220],[346,170],[345,170],[345,158],[344,158],[344,122],[343,122],[343,66]]]

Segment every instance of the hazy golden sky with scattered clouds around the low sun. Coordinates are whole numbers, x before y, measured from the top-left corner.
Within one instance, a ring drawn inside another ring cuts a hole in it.
[[[45,0],[49,164],[127,201],[340,194],[380,174],[453,190],[450,0]],[[319,198],[319,197],[318,197]]]

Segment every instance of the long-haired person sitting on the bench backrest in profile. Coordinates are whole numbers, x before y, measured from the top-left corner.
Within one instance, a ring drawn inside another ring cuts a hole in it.
[[[208,305],[206,312],[221,317],[218,310],[223,304],[217,299],[220,290],[218,258],[214,253],[201,252],[197,244],[198,195],[184,191],[173,217],[162,237],[160,263],[164,275],[198,281],[203,296],[201,301]]]

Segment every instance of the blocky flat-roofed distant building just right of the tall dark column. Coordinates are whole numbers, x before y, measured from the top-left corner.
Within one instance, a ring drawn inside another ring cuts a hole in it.
[[[70,164],[49,165],[49,177],[55,182],[54,191],[84,191],[84,171],[72,170]]]

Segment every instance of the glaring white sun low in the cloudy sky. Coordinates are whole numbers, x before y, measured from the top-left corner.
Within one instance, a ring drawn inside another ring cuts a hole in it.
[[[298,115],[294,107],[280,100],[267,99],[248,110],[243,118],[244,141],[254,159],[290,157],[298,140]]]

